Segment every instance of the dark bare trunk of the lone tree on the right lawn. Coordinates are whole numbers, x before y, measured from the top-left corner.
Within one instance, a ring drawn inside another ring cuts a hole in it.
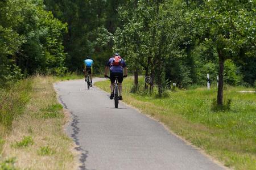
[[[223,74],[224,74],[224,58],[220,50],[218,50],[218,95],[217,104],[223,105]]]

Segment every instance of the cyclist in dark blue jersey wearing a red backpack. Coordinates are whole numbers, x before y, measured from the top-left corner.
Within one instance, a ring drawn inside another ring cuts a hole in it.
[[[125,75],[123,75],[123,70],[125,71]],[[112,58],[109,59],[108,63],[106,63],[105,67],[105,77],[108,77],[108,71],[110,71],[110,88],[111,94],[110,99],[114,98],[114,83],[115,83],[115,76],[118,76],[118,89],[119,89],[119,100],[122,99],[122,82],[123,77],[127,76],[127,67],[125,60],[119,56],[118,53],[115,53]]]

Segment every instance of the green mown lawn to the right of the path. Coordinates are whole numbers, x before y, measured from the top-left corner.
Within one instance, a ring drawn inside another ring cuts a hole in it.
[[[142,79],[140,80],[143,86]],[[166,97],[131,94],[133,79],[123,83],[124,102],[133,105],[202,148],[227,167],[256,169],[256,94],[253,88],[225,86],[225,107],[216,108],[217,88],[167,91]],[[109,81],[96,86],[109,92]]]

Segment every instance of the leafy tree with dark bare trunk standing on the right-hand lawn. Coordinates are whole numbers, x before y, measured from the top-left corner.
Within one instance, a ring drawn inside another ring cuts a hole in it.
[[[221,0],[205,1],[202,10],[193,14],[197,32],[207,35],[204,42],[212,44],[218,54],[218,105],[223,104],[224,61],[255,56],[255,14],[253,1]]]

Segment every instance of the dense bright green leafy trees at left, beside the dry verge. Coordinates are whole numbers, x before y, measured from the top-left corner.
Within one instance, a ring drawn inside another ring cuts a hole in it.
[[[0,2],[0,86],[22,78],[22,73],[65,71],[63,33],[66,24],[44,10],[42,0]]]

